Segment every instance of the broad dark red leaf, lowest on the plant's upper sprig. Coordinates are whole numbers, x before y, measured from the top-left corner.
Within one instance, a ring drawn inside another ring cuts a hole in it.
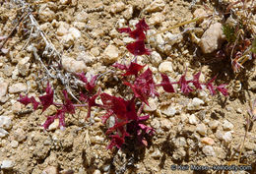
[[[137,40],[135,42],[127,44],[126,48],[130,53],[133,55],[143,55],[147,54],[150,55],[151,51],[145,47],[144,40]]]

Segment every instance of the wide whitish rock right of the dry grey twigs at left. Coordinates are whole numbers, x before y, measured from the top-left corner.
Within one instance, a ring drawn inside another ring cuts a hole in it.
[[[82,73],[87,71],[87,66],[84,61],[77,61],[73,58],[62,56],[63,68],[71,73]]]

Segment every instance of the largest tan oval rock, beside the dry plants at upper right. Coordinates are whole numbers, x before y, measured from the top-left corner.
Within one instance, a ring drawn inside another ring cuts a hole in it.
[[[220,48],[223,40],[223,25],[221,23],[216,23],[211,25],[210,28],[204,32],[199,42],[199,46],[203,53],[212,53]]]

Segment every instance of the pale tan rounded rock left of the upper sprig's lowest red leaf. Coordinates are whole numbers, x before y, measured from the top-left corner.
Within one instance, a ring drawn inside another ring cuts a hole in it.
[[[116,46],[110,44],[105,48],[103,56],[106,63],[114,63],[118,60],[119,50]]]

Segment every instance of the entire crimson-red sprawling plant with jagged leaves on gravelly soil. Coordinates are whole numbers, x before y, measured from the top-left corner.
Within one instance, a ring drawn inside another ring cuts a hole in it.
[[[135,56],[148,54],[148,50],[145,48],[144,39],[146,38],[144,31],[149,29],[148,25],[144,20],[140,21],[136,25],[135,30],[120,29],[122,32],[127,32],[131,37],[136,38],[137,41],[127,45],[127,48]],[[131,51],[130,46],[134,44],[139,44],[141,46],[134,47],[136,51]],[[143,47],[143,50],[141,49]],[[173,85],[176,84],[180,87],[181,92],[188,94],[193,91],[192,85],[197,89],[203,89],[207,87],[212,94],[216,94],[216,90],[221,91],[224,95],[227,95],[227,90],[224,88],[226,85],[214,86],[213,82],[216,77],[210,80],[207,84],[201,84],[199,78],[201,73],[194,75],[193,80],[186,80],[186,71],[184,75],[181,76],[179,81],[170,82],[168,77],[161,74],[162,81],[159,85],[156,85],[153,78],[153,72],[148,68],[146,71],[141,72],[146,66],[139,65],[137,63],[131,62],[129,66],[115,63],[112,65],[122,71],[121,74],[123,84],[126,87],[130,87],[132,91],[131,99],[126,99],[125,97],[116,97],[104,92],[100,89],[96,91],[96,80],[98,76],[94,76],[90,81],[85,77],[85,74],[77,74],[77,77],[85,84],[84,91],[80,92],[80,101],[82,104],[74,104],[68,97],[66,90],[63,90],[63,103],[56,103],[53,100],[54,90],[47,84],[45,89],[45,94],[39,96],[39,102],[35,98],[29,96],[20,95],[19,101],[25,105],[32,103],[33,109],[36,110],[38,106],[42,106],[42,112],[44,112],[50,105],[56,106],[57,112],[54,115],[47,116],[46,121],[42,125],[45,130],[53,123],[55,119],[59,119],[59,127],[61,129],[65,128],[65,114],[74,114],[76,107],[87,107],[88,114],[86,118],[91,116],[92,107],[99,107],[104,109],[106,113],[101,117],[102,123],[106,124],[107,120],[112,116],[114,118],[114,126],[110,127],[106,131],[106,135],[111,139],[110,144],[107,148],[112,148],[116,146],[120,148],[125,144],[125,139],[130,138],[137,140],[139,145],[148,145],[147,137],[151,137],[154,134],[154,129],[148,127],[144,124],[150,118],[150,115],[140,116],[142,109],[145,104],[149,105],[149,97],[159,96],[157,92],[157,87],[163,87],[166,92],[175,92]],[[133,76],[133,78],[131,78]],[[96,98],[100,97],[101,104],[96,103]],[[135,104],[136,103],[136,104]]]

